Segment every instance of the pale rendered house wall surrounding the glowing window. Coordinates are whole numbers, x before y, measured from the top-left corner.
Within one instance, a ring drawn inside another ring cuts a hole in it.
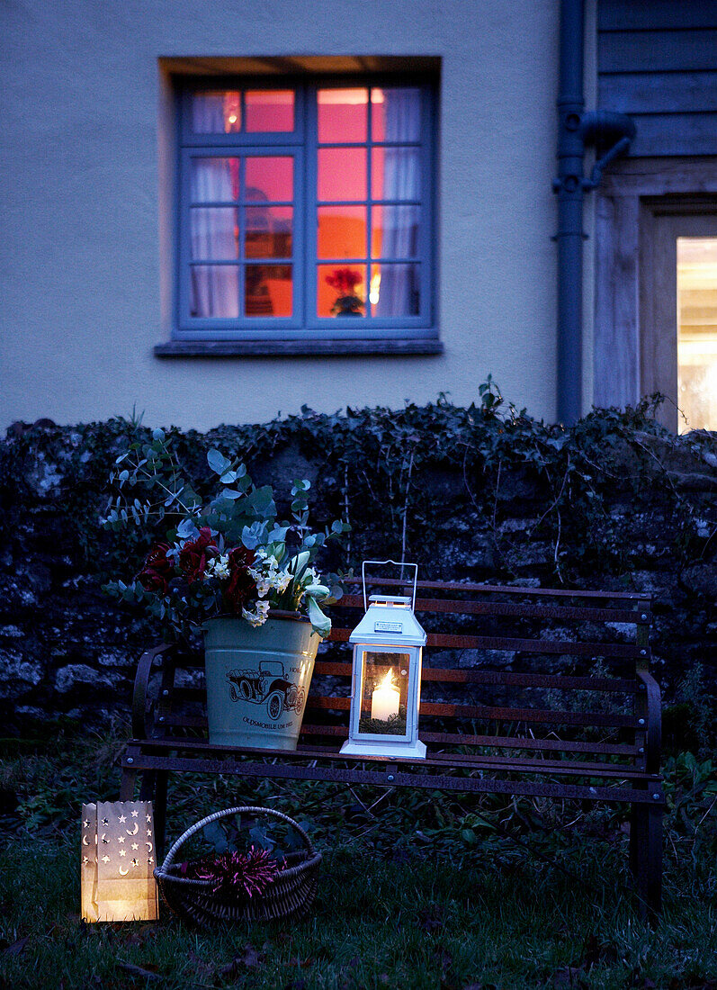
[[[207,429],[478,399],[556,409],[557,0],[5,0],[0,429],[144,410]],[[171,157],[159,58],[442,58],[440,356],[164,359]],[[166,171],[166,169],[165,169]]]

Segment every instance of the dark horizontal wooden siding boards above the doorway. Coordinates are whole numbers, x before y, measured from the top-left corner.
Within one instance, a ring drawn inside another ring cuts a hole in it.
[[[598,106],[637,125],[633,157],[717,154],[717,0],[598,0]]]

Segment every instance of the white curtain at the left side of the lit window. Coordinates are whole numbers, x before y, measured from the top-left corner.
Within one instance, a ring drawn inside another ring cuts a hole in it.
[[[196,95],[192,101],[195,132],[224,133],[222,95]],[[228,158],[192,158],[191,200],[193,203],[234,199]],[[192,258],[224,260],[236,257],[235,210],[197,208],[191,210]],[[192,265],[190,312],[197,317],[238,316],[238,267],[236,265]]]

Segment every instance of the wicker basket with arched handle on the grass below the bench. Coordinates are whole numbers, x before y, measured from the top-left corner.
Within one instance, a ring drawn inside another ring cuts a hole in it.
[[[183,842],[211,822],[239,814],[268,815],[287,822],[302,837],[306,848],[290,852],[286,856],[286,868],[277,873],[261,894],[255,893],[252,897],[239,890],[235,894],[215,894],[212,880],[180,876],[179,866],[173,863]],[[222,922],[279,921],[305,915],[314,901],[320,862],[320,852],[315,851],[304,829],[288,815],[273,808],[227,808],[187,829],[171,847],[162,865],[154,870],[154,876],[164,900],[176,915],[200,928],[212,928]]]

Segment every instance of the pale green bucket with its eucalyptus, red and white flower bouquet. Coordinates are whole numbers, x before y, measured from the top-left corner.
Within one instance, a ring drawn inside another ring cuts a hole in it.
[[[162,430],[117,458],[104,524],[164,525],[166,538],[132,579],[105,590],[143,605],[167,638],[204,632],[212,743],[295,749],[316,648],[331,629],[321,605],[341,594],[322,583],[314,557],[348,527],[311,531],[308,480],[292,485],[292,518],[280,524],[271,486],[254,485],[218,449],[207,461],[213,484],[203,497]]]

